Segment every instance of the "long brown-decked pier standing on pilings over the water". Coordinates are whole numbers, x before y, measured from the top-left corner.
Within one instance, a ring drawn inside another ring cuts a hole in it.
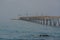
[[[39,23],[42,25],[60,26],[60,16],[31,16],[20,17],[19,20]]]

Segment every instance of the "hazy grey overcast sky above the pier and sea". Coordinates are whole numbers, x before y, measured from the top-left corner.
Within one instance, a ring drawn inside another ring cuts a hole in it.
[[[60,16],[60,0],[0,0],[0,20],[18,16]]]

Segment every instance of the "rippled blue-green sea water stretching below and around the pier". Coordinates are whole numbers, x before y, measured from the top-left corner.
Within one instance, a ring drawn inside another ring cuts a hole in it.
[[[49,36],[39,36],[43,34]],[[0,40],[60,40],[60,27],[9,20],[0,22]]]

